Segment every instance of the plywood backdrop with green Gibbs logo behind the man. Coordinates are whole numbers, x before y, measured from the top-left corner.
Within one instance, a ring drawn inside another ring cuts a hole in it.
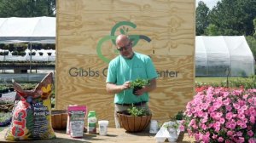
[[[85,105],[113,127],[105,81],[118,54],[112,39],[121,32],[159,72],[150,93],[153,118],[164,122],[185,108],[194,95],[195,0],[57,1],[56,108]]]

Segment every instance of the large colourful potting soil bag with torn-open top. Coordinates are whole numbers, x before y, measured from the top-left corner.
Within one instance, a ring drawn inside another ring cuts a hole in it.
[[[20,84],[13,83],[20,100],[13,109],[12,123],[5,140],[55,139],[49,97],[53,89],[52,72],[32,90],[23,90]]]

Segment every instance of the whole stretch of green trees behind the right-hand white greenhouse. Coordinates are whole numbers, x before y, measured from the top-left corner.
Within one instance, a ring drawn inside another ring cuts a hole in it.
[[[209,9],[200,1],[195,10],[196,36],[245,36],[256,57],[256,1],[221,0]]]

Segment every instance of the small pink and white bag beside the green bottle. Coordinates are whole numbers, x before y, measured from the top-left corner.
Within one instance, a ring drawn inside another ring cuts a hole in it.
[[[67,134],[73,138],[83,137],[86,106],[67,106]]]

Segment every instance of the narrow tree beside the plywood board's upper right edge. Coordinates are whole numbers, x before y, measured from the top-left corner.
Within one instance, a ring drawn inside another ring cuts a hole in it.
[[[209,8],[207,7],[207,4],[200,1],[195,10],[196,35],[204,35],[205,29],[209,25],[208,14]]]

